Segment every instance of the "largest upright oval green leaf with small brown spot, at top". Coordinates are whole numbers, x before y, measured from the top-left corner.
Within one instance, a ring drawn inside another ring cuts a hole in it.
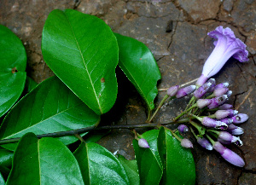
[[[73,9],[53,10],[44,25],[44,61],[95,113],[117,97],[118,44],[103,20]]]

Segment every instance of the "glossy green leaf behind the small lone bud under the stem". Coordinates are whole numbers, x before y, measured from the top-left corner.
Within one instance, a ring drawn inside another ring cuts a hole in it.
[[[159,184],[163,173],[163,167],[157,150],[158,133],[159,130],[149,130],[143,134],[143,138],[147,140],[149,148],[139,147],[137,140],[132,142],[142,185]]]

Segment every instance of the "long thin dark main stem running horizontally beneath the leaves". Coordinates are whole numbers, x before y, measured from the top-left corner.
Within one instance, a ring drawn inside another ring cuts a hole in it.
[[[181,124],[181,123],[186,123],[186,122],[189,122],[189,119],[180,119],[178,121],[168,121],[168,122],[162,123],[162,125]],[[86,127],[86,128],[82,128],[82,129],[77,129],[77,130],[67,130],[67,131],[60,131],[60,132],[37,135],[37,137],[38,137],[38,139],[40,139],[43,137],[74,136],[76,134],[81,134],[81,133],[88,132],[91,130],[112,130],[112,129],[129,129],[130,130],[130,129],[134,129],[134,128],[156,127],[158,124],[160,124],[160,123],[109,125],[109,126],[101,126],[101,127],[97,127],[97,128],[96,128],[96,126],[90,126],[90,127]],[[19,140],[20,140],[20,137],[11,138],[11,139],[3,139],[3,140],[0,140],[0,145],[19,142]]]

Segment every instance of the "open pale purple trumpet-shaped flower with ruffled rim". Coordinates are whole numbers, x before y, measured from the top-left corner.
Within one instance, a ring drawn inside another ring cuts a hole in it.
[[[211,38],[217,39],[217,41],[213,43],[215,48],[203,67],[201,77],[196,82],[197,86],[206,83],[207,78],[215,75],[231,56],[241,62],[248,61],[246,44],[242,43],[239,38],[236,38],[234,32],[229,27],[223,28],[223,26],[218,26],[214,31],[208,32],[208,35]]]

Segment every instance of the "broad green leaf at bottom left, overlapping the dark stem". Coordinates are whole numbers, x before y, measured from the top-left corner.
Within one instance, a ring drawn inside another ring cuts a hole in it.
[[[27,133],[15,150],[7,184],[84,184],[79,164],[55,138]]]

